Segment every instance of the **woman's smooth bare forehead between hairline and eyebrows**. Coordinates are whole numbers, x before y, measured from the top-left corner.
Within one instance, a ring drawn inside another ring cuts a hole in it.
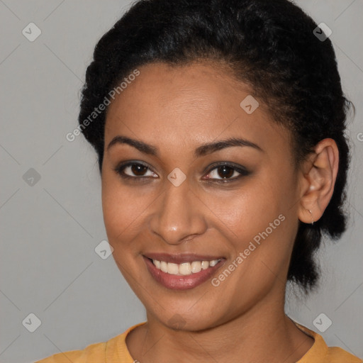
[[[138,69],[140,75],[108,106],[105,144],[118,133],[166,147],[187,140],[198,145],[218,135],[262,144],[286,139],[262,101],[250,114],[240,106],[252,91],[225,68],[152,63]]]

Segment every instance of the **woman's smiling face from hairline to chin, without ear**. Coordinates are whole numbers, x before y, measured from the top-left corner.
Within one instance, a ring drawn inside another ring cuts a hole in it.
[[[289,132],[211,64],[139,70],[108,108],[101,172],[123,276],[169,327],[280,301],[298,228]]]

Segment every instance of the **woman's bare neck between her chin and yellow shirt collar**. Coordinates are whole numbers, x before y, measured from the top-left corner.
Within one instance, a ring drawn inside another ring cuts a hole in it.
[[[147,323],[130,333],[126,344],[140,363],[294,363],[313,338],[285,315],[284,299],[265,298],[242,315],[200,331],[173,330],[148,313]]]

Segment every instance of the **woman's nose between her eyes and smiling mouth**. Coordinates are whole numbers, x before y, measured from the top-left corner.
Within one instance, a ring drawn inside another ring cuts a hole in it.
[[[152,233],[168,245],[179,245],[203,234],[207,228],[204,204],[191,190],[188,179],[179,186],[174,186],[169,180],[165,184],[150,219]]]

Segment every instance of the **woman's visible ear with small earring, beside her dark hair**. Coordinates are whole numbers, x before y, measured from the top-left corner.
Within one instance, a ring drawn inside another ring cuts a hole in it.
[[[321,140],[303,163],[298,219],[312,223],[323,216],[333,196],[339,165],[339,150],[333,139]],[[310,213],[310,211],[311,213]]]

